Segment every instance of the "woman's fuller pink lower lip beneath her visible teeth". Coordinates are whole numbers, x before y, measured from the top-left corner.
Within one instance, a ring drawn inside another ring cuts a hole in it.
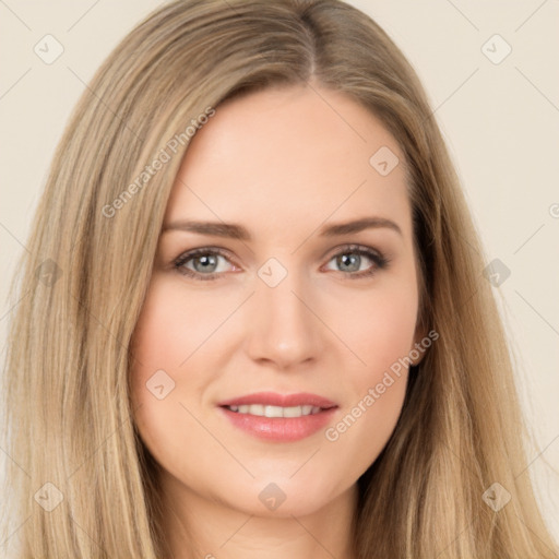
[[[235,427],[258,437],[278,442],[293,442],[306,439],[325,427],[336,411],[335,407],[323,409],[318,414],[301,417],[262,417],[239,414],[227,407],[219,407]]]

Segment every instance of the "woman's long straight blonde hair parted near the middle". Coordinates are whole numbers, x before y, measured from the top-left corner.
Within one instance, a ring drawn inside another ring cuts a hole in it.
[[[3,395],[15,507],[2,542],[16,536],[19,557],[168,557],[157,465],[132,421],[129,346],[187,129],[235,95],[311,78],[371,110],[401,145],[420,318],[440,334],[359,478],[357,556],[557,558],[526,471],[483,251],[441,133],[402,52],[338,0],[166,4],[84,92],[13,289]],[[493,483],[511,496],[497,512],[483,499]]]

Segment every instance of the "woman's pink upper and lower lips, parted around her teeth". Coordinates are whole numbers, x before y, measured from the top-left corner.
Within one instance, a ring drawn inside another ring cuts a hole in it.
[[[239,414],[226,407],[251,404],[282,407],[312,405],[322,409],[317,414],[301,417],[263,417]],[[324,428],[337,409],[337,405],[317,394],[299,393],[284,395],[273,392],[259,392],[221,402],[218,409],[235,427],[253,437],[275,442],[295,442],[306,439]]]

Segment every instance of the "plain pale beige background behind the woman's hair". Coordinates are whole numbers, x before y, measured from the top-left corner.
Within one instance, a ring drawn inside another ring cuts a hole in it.
[[[520,358],[527,421],[543,450],[531,451],[530,471],[559,539],[558,476],[546,466],[559,469],[559,1],[350,3],[376,19],[416,68],[488,262],[499,259],[511,272],[495,289]],[[9,278],[69,112],[106,55],[158,4],[0,1],[2,356]],[[51,64],[34,52],[47,34],[63,47]]]

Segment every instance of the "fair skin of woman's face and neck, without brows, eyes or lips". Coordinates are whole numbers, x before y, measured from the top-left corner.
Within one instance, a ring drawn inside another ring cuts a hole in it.
[[[400,158],[388,176],[369,164],[381,146]],[[181,219],[226,222],[253,238],[163,233],[134,332],[134,419],[162,466],[174,557],[194,557],[187,530],[195,557],[355,557],[356,483],[396,425],[407,370],[336,441],[324,429],[296,442],[261,440],[233,426],[217,403],[260,391],[311,392],[338,405],[332,427],[420,341],[403,162],[380,120],[318,84],[226,102],[193,138],[164,228]],[[366,216],[390,219],[401,233],[319,235]],[[361,257],[358,272],[347,271],[335,257],[355,254],[348,243],[390,263],[352,278],[376,264]],[[200,259],[183,267],[202,280],[174,266],[205,247],[228,254],[210,270],[216,280],[203,280]],[[275,287],[258,275],[270,258],[287,271]],[[160,369],[175,382],[163,400],[146,388]],[[286,496],[274,511],[259,499],[271,483]]]

